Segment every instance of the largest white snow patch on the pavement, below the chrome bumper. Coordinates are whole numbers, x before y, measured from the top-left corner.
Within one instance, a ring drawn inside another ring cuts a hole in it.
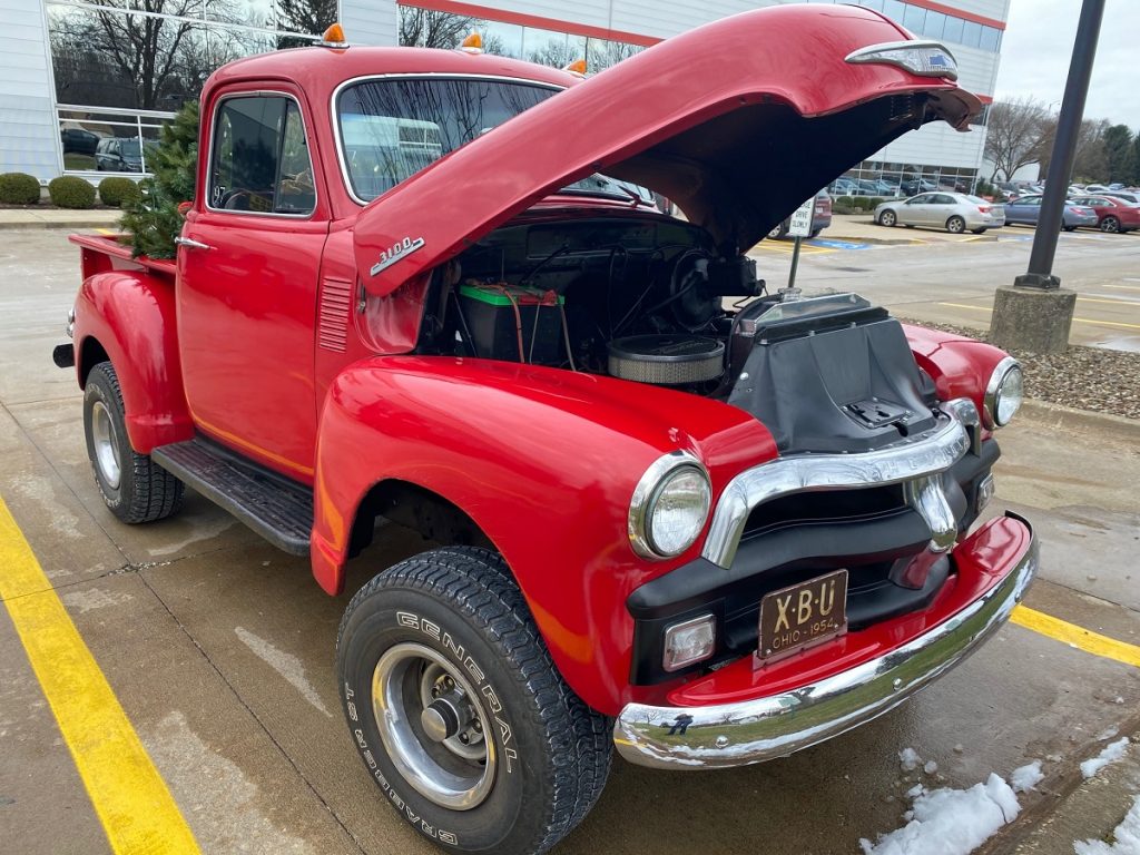
[[[860,840],[860,846],[865,855],[967,855],[1012,822],[1020,809],[1010,785],[991,773],[988,781],[968,790],[920,790],[906,825],[881,836],[877,844]]]

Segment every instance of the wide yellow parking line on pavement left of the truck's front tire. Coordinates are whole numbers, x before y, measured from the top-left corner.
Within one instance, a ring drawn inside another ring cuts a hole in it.
[[[112,850],[197,855],[178,805],[2,498],[0,569],[0,598]]]

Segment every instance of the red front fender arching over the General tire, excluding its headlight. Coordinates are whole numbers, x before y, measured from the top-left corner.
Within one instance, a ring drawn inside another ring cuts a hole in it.
[[[463,510],[510,564],[570,686],[610,715],[628,685],[638,585],[700,554],[645,561],[627,536],[629,500],[660,455],[705,462],[715,496],[775,456],[747,413],[654,386],[536,366],[450,357],[377,357],[347,368],[317,441],[314,572],[329,593],[357,507],[398,479]],[[660,687],[654,687],[660,690]]]

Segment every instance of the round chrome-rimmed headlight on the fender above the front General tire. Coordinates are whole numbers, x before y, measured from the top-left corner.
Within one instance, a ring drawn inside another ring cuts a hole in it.
[[[659,457],[642,475],[629,503],[629,543],[638,555],[679,555],[701,534],[712,489],[700,461],[687,451]]]

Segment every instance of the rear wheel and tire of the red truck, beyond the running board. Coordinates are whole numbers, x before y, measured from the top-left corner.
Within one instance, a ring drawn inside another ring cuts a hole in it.
[[[163,520],[178,512],[184,484],[149,455],[131,447],[123,393],[111,363],[99,363],[87,375],[83,432],[95,483],[115,516],[133,524]]]

